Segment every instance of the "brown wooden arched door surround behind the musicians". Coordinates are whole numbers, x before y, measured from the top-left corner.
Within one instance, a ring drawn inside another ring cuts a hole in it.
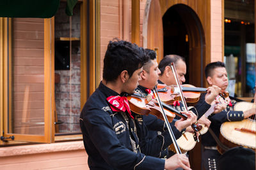
[[[167,53],[186,57],[186,79],[196,87],[205,87],[204,67],[211,62],[210,10],[210,3],[200,0],[194,0],[193,3],[184,0],[147,0],[144,13],[143,46],[157,51],[158,62]],[[178,20],[177,25],[166,26],[166,22],[171,22],[175,18]],[[180,34],[173,33],[175,30],[180,31]],[[164,34],[166,31],[170,37]],[[181,39],[183,42],[177,42],[175,39]],[[168,47],[168,44],[171,47]],[[200,143],[189,151],[189,162],[192,169],[201,169]]]

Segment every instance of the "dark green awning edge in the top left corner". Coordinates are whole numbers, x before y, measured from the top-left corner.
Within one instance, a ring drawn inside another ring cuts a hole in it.
[[[77,0],[67,0],[67,15],[71,16]],[[60,0],[3,0],[0,1],[0,17],[51,18],[55,15]]]

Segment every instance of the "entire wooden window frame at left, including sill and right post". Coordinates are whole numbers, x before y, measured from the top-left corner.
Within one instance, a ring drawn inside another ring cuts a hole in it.
[[[81,2],[81,1],[79,1]],[[87,17],[89,15],[89,18]],[[44,19],[44,136],[8,133],[8,113],[11,112],[12,99],[6,101],[12,92],[12,31],[11,18],[0,18],[0,136],[15,139],[0,140],[1,145],[20,143],[54,143],[83,139],[81,134],[55,136],[54,131],[54,17]],[[9,24],[7,26],[7,23]],[[88,96],[100,82],[100,1],[83,0],[81,3],[81,109]],[[89,26],[88,26],[89,25]],[[7,30],[8,29],[8,30]],[[89,29],[89,31],[88,31]],[[8,41],[9,39],[9,41]],[[9,56],[9,62],[8,62]],[[89,56],[90,58],[88,59]],[[7,65],[9,63],[9,66]],[[50,69],[49,69],[50,68]],[[8,70],[9,69],[9,70]],[[9,71],[9,74],[8,74]],[[89,76],[90,74],[90,76]],[[8,76],[9,75],[9,76]],[[7,87],[8,84],[10,87]],[[9,104],[9,106],[8,106]],[[8,110],[9,108],[9,110]],[[10,118],[9,118],[10,119]],[[10,122],[9,122],[10,125]],[[3,134],[4,131],[4,134]]]

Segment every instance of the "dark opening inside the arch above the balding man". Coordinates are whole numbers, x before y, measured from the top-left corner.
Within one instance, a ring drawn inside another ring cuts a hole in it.
[[[188,31],[179,13],[173,8],[164,13],[163,16],[163,35],[164,35],[164,56],[176,54],[186,59],[187,73],[189,71],[189,44]],[[185,76],[189,83],[189,74]]]

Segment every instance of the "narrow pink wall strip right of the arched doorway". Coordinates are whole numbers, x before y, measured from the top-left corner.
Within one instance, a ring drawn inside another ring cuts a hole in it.
[[[221,7],[221,0],[211,0],[211,62],[223,59]]]

